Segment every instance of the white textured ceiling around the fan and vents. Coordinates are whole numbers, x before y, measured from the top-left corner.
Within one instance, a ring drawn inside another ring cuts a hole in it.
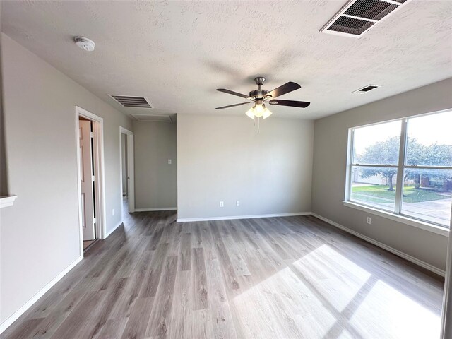
[[[318,118],[452,76],[452,1],[410,1],[360,39],[320,33],[343,1],[0,1],[1,31],[105,102],[147,97],[153,114],[243,114],[255,76],[302,85],[274,116]],[[82,35],[96,43],[84,52]],[[383,85],[363,95],[364,85]]]

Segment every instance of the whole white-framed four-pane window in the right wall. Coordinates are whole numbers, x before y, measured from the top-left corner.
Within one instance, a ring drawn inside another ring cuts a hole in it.
[[[452,111],[350,132],[346,200],[449,227]]]

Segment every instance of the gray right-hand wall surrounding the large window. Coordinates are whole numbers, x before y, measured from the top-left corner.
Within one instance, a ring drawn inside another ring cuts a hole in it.
[[[352,126],[452,107],[452,79],[316,120],[312,211],[437,268],[446,266],[447,237],[343,206],[347,133]]]

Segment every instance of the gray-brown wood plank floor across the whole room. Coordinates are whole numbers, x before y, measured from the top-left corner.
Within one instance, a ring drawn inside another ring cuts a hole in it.
[[[1,338],[439,338],[441,278],[314,217],[125,218]]]

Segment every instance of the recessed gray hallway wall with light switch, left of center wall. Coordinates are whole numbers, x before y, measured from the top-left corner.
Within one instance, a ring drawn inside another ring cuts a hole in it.
[[[135,207],[177,206],[176,124],[134,121]],[[168,164],[168,159],[172,164]]]

